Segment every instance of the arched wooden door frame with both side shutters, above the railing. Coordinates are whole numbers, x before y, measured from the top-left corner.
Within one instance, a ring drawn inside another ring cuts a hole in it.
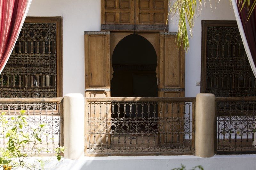
[[[85,97],[111,97],[112,55],[133,32],[85,32]],[[184,50],[171,32],[136,32],[154,47],[158,97],[184,97]]]

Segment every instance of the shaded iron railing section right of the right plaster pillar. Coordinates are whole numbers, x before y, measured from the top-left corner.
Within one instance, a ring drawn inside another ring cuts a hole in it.
[[[256,97],[216,98],[216,152],[256,153]]]

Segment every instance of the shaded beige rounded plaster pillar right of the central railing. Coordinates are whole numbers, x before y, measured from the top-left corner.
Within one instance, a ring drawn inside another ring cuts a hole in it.
[[[196,95],[196,156],[214,155],[215,96],[210,93]]]

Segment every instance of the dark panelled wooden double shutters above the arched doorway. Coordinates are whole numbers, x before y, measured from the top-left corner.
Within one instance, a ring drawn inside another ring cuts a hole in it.
[[[101,0],[101,31],[168,31],[168,0]]]

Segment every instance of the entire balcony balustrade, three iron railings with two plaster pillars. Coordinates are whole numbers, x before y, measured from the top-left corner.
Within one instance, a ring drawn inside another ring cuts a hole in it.
[[[214,138],[217,154],[256,153],[256,97],[214,98],[202,94],[199,100],[182,97],[83,98],[82,95],[74,98],[76,102],[70,102],[73,97],[64,97],[65,109],[63,98],[0,98],[0,111],[6,113],[12,124],[16,119],[11,117],[17,117],[24,109],[28,126],[20,130],[28,134],[33,133],[33,127],[46,125],[47,130],[41,137],[41,153],[53,153],[53,148],[63,146],[63,112],[66,117],[71,116],[65,124],[65,140],[69,146],[66,152],[77,152],[77,155],[85,142],[88,156],[184,155],[195,154],[195,150],[198,156],[211,156],[214,149],[209,148],[213,147],[210,143]],[[206,111],[209,107],[213,109]],[[214,129],[214,113],[215,135],[210,130]],[[207,115],[212,118],[204,119]],[[2,147],[7,143],[5,133],[1,130]],[[197,148],[195,135],[199,139]],[[203,139],[209,139],[207,144]],[[26,149],[33,152],[31,148]]]

